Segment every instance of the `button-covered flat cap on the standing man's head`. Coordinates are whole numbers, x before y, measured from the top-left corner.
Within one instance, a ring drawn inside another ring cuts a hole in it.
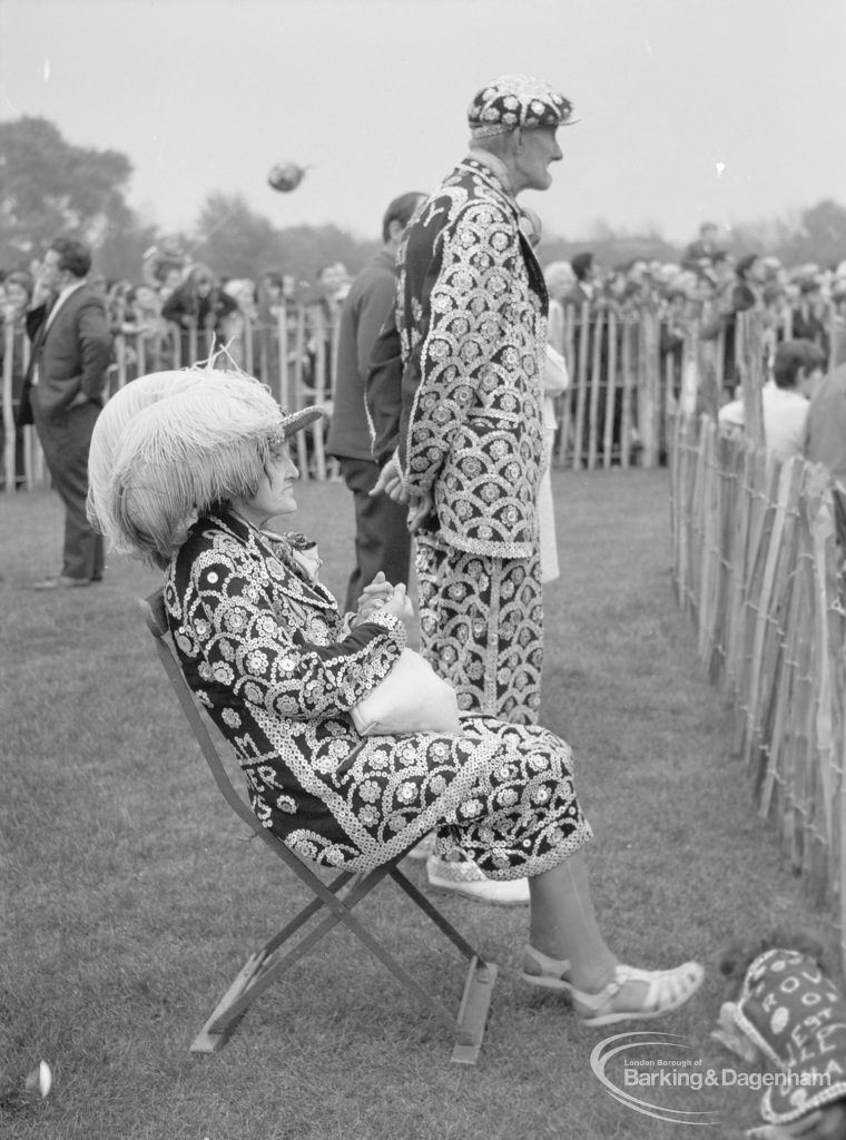
[[[477,91],[467,107],[470,133],[474,139],[537,127],[569,127],[578,122],[572,104],[542,79],[531,75],[501,75]]]

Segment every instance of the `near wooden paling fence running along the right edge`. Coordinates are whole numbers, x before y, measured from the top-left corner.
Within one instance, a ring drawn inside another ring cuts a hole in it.
[[[673,573],[734,710],[733,752],[791,869],[831,906],[846,963],[846,611],[828,473],[677,416]]]

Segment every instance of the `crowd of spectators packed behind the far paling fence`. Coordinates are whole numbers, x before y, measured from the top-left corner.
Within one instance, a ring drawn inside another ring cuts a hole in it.
[[[11,345],[13,404],[23,382],[24,315],[38,268],[38,262],[0,267],[0,359]],[[717,227],[705,222],[677,261],[644,256],[605,266],[584,249],[569,261],[546,264],[544,272],[551,342],[562,353],[568,311],[576,328],[574,372],[585,316],[604,321],[604,351],[608,315],[623,320],[644,309],[659,319],[662,366],[672,361],[676,391],[685,336],[695,321],[701,339],[719,339],[725,399],[732,397],[737,315],[749,310],[762,315],[770,361],[786,339],[811,341],[832,365],[846,359],[846,261],[788,266],[767,254],[737,256],[721,244]],[[298,389],[306,397],[331,399],[337,316],[351,282],[341,263],[325,266],[314,283],[272,268],[257,279],[227,278],[192,259],[178,241],[163,238],[144,255],[136,280],[96,274],[89,280],[105,293],[115,334],[113,369],[122,380],[203,360],[215,345],[227,345],[236,364],[276,389],[284,326]],[[21,466],[23,448],[16,447],[16,454]],[[23,472],[16,478],[23,479]]]

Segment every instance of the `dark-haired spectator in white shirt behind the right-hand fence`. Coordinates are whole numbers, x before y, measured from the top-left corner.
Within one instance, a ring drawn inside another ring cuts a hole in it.
[[[824,360],[811,341],[783,341],[775,350],[773,378],[764,384],[760,402],[766,453],[781,463],[805,453],[808,401],[822,380]],[[726,429],[743,427],[742,399],[719,409],[719,423]]]

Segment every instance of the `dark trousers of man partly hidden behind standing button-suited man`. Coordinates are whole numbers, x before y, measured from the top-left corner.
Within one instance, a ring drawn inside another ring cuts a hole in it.
[[[356,569],[350,575],[344,610],[353,610],[365,586],[380,570],[393,586],[408,585],[412,536],[408,507],[387,495],[367,494],[376,486],[379,466],[372,459],[339,458],[341,474],[356,504]]]

